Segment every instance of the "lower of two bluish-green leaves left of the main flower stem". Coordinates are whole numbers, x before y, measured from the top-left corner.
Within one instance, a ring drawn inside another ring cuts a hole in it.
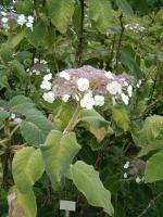
[[[53,124],[45,116],[35,114],[35,112],[26,113],[26,120],[21,123],[21,133],[24,139],[32,145],[40,145],[45,143],[46,137],[54,128]]]

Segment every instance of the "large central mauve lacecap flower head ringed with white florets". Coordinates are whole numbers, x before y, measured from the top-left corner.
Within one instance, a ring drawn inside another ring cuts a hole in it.
[[[53,100],[62,98],[64,102],[67,102],[72,98],[79,102],[80,107],[87,110],[91,110],[93,106],[103,106],[106,95],[112,97],[115,103],[116,100],[121,99],[125,104],[128,104],[133,94],[133,86],[130,81],[127,81],[127,78],[91,66],[60,72],[52,90],[51,87],[51,82],[45,77],[40,88],[52,91]],[[50,92],[50,99],[51,95]],[[53,102],[47,98],[47,94],[43,99]]]

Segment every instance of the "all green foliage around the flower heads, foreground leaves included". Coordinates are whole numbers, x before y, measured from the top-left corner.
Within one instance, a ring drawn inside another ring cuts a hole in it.
[[[162,216],[163,1],[16,0],[13,4],[1,0],[0,10],[10,12],[12,5],[15,13],[33,15],[35,22],[33,30],[15,24],[9,30],[0,29],[0,216],[8,215],[7,195],[13,192],[12,205],[21,204],[27,217],[36,212],[39,217],[62,216],[60,200],[77,202],[72,216],[108,216],[112,205],[103,199],[110,201],[110,194],[115,217]],[[145,30],[125,28],[135,23]],[[60,101],[49,104],[42,100],[45,68],[39,76],[27,73],[35,58],[46,60],[53,76],[88,64],[116,75],[134,75],[141,85],[137,88],[135,84],[129,105],[106,103],[97,113],[83,113],[76,136],[63,136],[74,105],[64,104],[58,113]],[[23,122],[15,124],[12,113]],[[111,127],[102,139],[97,122]],[[138,158],[147,163],[146,171]],[[124,179],[126,161],[131,167]],[[143,175],[145,182],[137,183],[136,177]]]

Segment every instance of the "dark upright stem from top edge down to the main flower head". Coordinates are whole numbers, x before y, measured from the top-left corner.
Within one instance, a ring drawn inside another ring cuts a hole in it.
[[[80,65],[82,56],[83,56],[83,42],[84,42],[84,20],[85,20],[85,0],[80,0],[80,9],[82,9],[82,17],[80,17],[80,29],[78,33],[78,46],[75,54],[74,67],[78,67]]]

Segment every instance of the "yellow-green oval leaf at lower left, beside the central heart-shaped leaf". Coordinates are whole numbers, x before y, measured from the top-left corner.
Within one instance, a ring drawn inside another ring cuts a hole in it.
[[[39,149],[24,148],[13,158],[12,174],[16,187],[22,193],[32,190],[43,170],[43,161]]]

